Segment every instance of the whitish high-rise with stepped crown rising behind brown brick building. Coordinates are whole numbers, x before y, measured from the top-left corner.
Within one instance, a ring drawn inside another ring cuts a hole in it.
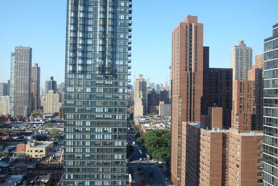
[[[233,80],[248,80],[248,70],[252,68],[252,54],[252,48],[246,47],[243,40],[231,48]]]

